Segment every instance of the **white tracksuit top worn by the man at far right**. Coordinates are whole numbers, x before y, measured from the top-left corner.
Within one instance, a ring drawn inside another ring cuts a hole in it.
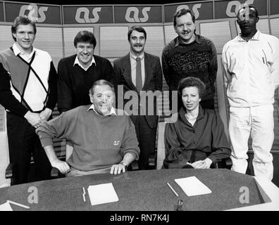
[[[279,85],[279,39],[256,32],[238,35],[223,46],[223,77],[230,106],[252,107],[274,102]]]

